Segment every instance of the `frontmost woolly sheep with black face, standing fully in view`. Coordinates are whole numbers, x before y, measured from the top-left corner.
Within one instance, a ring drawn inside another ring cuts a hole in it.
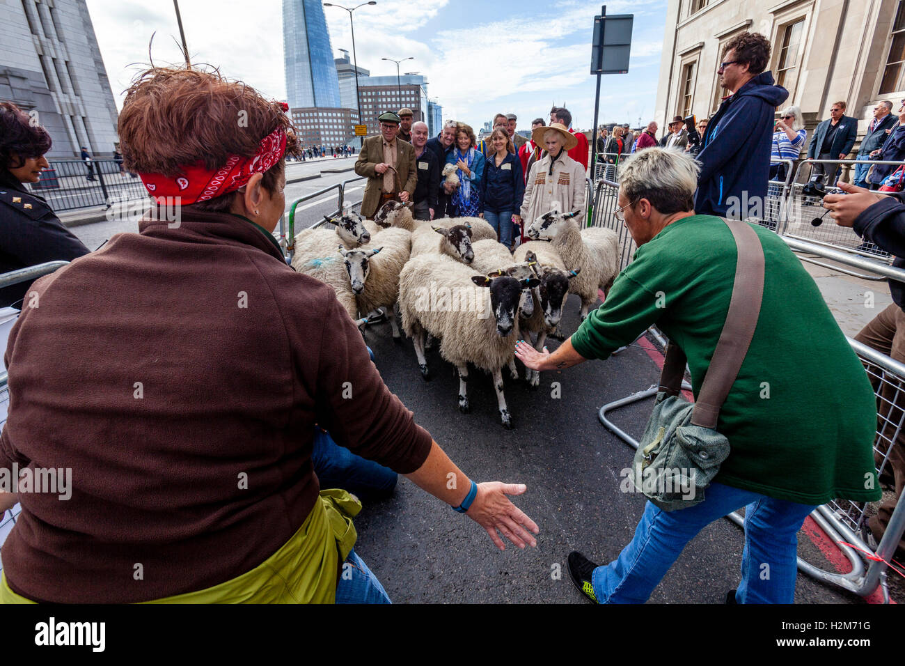
[[[459,410],[468,412],[468,364],[490,372],[500,420],[512,427],[503,394],[502,368],[510,365],[519,338],[517,309],[522,289],[536,277],[480,275],[449,256],[412,257],[399,276],[399,310],[405,334],[414,341],[422,376],[428,379],[424,333],[441,341],[440,355],[459,372]],[[486,287],[483,291],[481,287]]]

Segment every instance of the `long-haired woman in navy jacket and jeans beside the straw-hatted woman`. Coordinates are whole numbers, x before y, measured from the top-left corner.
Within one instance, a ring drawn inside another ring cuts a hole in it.
[[[500,128],[493,130],[490,145],[491,154],[484,163],[484,178],[481,179],[481,217],[496,229],[500,243],[511,247],[513,217],[521,224],[519,210],[525,195],[525,179],[509,132]]]

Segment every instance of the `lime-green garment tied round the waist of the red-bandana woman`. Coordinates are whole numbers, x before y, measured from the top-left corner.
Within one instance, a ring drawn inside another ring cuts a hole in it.
[[[357,497],[339,488],[321,490],[299,530],[281,548],[236,578],[197,592],[142,603],[334,603],[338,572],[355,545],[352,518]],[[34,603],[0,579],[0,603]]]

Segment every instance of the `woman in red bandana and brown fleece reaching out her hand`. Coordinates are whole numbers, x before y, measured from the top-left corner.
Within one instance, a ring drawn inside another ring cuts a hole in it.
[[[20,488],[0,602],[388,601],[352,550],[357,499],[319,487],[315,423],[500,548],[498,530],[536,544],[506,497],[525,487],[466,477],[387,390],[333,290],[283,260],[272,231],[300,150],[284,111],[194,69],[129,89],[124,165],[157,207],[35,282],[40,308],[11,333],[0,468],[71,483]]]

